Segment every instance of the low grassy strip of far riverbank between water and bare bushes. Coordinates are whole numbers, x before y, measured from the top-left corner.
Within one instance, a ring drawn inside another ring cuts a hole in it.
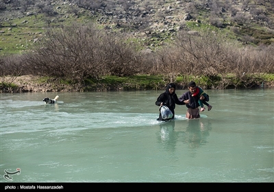
[[[264,75],[263,80],[260,78],[255,84],[242,84],[238,88],[274,88],[274,75]],[[235,77],[231,77],[232,79]],[[3,80],[5,79],[5,80]],[[184,79],[184,81],[183,81]],[[182,77],[178,76],[175,82],[177,88],[186,89],[190,80],[195,80],[199,86],[206,89],[209,88],[207,82],[202,78],[194,76]],[[3,82],[10,82],[5,84]],[[134,90],[160,90],[164,89],[170,81],[163,75],[135,75],[131,77],[105,76],[101,80],[89,80],[86,84],[72,84],[69,81],[41,77],[34,75],[21,75],[18,77],[5,76],[2,77],[0,83],[0,93],[27,93],[27,92],[75,92],[75,91],[134,91]],[[223,86],[223,82],[214,82],[216,87]],[[230,88],[235,88],[236,84]],[[221,87],[223,88],[223,87]]]

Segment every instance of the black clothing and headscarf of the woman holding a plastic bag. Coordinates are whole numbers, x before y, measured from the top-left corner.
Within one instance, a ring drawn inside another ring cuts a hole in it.
[[[185,105],[184,101],[179,101],[175,91],[173,92],[173,94],[169,93],[169,86],[166,87],[166,91],[158,97],[157,101],[155,101],[156,106],[160,106],[161,103],[163,103],[164,106],[167,106],[171,110],[171,112],[173,112],[173,117],[171,119],[173,119],[175,115],[175,104]],[[160,120],[162,120],[162,117],[159,118]]]

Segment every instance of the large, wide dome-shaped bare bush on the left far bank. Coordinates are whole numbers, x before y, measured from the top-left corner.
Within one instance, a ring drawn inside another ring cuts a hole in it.
[[[66,77],[84,84],[88,77],[134,75],[140,67],[138,54],[117,34],[108,34],[95,25],[49,29],[47,39],[29,53],[32,73]]]

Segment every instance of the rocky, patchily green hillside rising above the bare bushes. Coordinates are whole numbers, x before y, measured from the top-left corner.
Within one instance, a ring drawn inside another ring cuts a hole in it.
[[[212,29],[242,45],[274,41],[274,1],[117,0],[0,1],[0,53],[23,53],[49,27],[96,23],[119,31],[140,49],[172,42],[180,30]]]

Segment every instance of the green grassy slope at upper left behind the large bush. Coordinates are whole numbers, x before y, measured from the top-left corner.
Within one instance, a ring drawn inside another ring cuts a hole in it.
[[[71,25],[73,22],[88,23],[94,20],[95,18],[88,16],[88,14],[82,14],[82,16],[79,17],[69,14],[66,19],[60,19],[60,21],[54,19],[49,26],[60,27],[62,25]],[[34,41],[44,37],[43,33],[47,27],[48,24],[45,21],[44,14],[13,19],[12,23],[3,21],[0,27],[0,48],[2,49],[0,53],[21,54],[26,50],[32,49],[34,47]]]

